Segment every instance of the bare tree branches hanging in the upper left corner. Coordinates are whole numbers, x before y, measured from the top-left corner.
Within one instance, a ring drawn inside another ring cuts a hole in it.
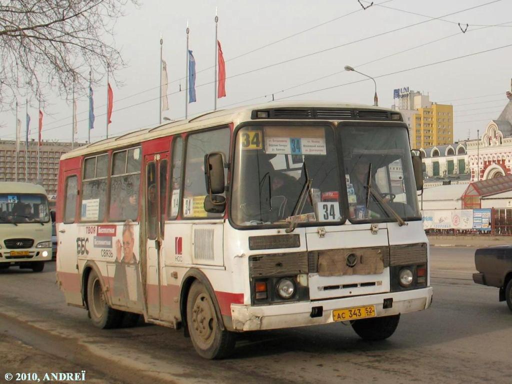
[[[83,92],[91,68],[93,84],[123,68],[110,41],[127,3],[138,0],[0,0],[0,111],[20,94]]]

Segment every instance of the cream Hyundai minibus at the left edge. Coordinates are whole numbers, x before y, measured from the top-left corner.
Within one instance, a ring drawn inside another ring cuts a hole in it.
[[[46,190],[30,183],[0,183],[0,269],[41,272],[52,260],[52,222]]]

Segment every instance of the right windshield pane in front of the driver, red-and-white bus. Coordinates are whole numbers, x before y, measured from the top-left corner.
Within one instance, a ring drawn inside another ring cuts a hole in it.
[[[341,126],[340,134],[350,221],[396,221],[392,211],[419,220],[407,129]]]

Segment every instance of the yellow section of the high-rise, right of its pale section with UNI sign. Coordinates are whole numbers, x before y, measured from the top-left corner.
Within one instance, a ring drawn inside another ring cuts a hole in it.
[[[453,106],[431,103],[411,118],[411,147],[425,148],[453,143]]]

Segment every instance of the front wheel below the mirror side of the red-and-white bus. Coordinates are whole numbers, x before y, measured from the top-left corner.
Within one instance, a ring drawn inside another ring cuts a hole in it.
[[[201,282],[192,284],[187,297],[188,332],[201,357],[222,359],[233,352],[235,336],[221,328],[212,300]]]

